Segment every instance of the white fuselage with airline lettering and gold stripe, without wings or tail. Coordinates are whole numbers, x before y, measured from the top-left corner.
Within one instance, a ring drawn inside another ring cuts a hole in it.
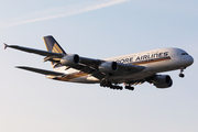
[[[160,48],[160,50],[129,54],[118,57],[111,57],[105,61],[146,67],[143,72],[138,74],[109,77],[110,81],[118,81],[118,82],[139,80],[142,78],[150,77],[156,73],[186,68],[189,65],[191,65],[194,62],[193,57],[180,48]],[[68,70],[66,70],[66,74],[69,74],[70,76],[75,76],[76,74],[79,74],[79,70],[69,68]],[[72,79],[63,78],[59,80],[86,82],[86,84],[100,82],[99,79],[92,77],[91,75],[87,75],[82,73],[81,75],[73,77]]]

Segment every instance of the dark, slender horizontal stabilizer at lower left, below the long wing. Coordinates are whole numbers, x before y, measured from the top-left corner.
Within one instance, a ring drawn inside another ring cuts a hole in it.
[[[62,76],[64,73],[57,73],[57,72],[51,72],[51,70],[45,70],[45,69],[38,69],[38,68],[33,68],[33,67],[26,67],[26,66],[16,66],[16,68],[25,69],[29,72],[34,72],[43,75],[53,75],[53,76]]]

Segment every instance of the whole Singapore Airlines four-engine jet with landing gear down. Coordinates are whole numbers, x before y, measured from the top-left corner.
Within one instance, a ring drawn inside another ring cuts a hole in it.
[[[100,84],[101,87],[134,90],[135,85],[145,81],[157,88],[169,88],[173,80],[169,75],[158,73],[180,69],[179,77],[184,77],[184,69],[194,63],[194,58],[180,48],[160,48],[148,52],[129,54],[107,59],[81,57],[67,54],[53,36],[44,36],[47,51],[34,50],[18,45],[4,44],[28,53],[45,56],[44,62],[52,62],[53,70],[16,66],[18,68],[43,74],[46,78]]]

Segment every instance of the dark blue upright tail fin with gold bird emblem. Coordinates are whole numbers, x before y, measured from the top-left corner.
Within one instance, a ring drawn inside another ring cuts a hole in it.
[[[43,38],[48,52],[66,54],[53,36],[44,36]]]

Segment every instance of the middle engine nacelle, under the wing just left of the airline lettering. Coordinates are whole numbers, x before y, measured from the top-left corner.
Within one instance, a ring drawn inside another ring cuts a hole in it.
[[[106,62],[99,65],[98,69],[102,73],[113,73],[118,69],[118,64],[116,62]]]

